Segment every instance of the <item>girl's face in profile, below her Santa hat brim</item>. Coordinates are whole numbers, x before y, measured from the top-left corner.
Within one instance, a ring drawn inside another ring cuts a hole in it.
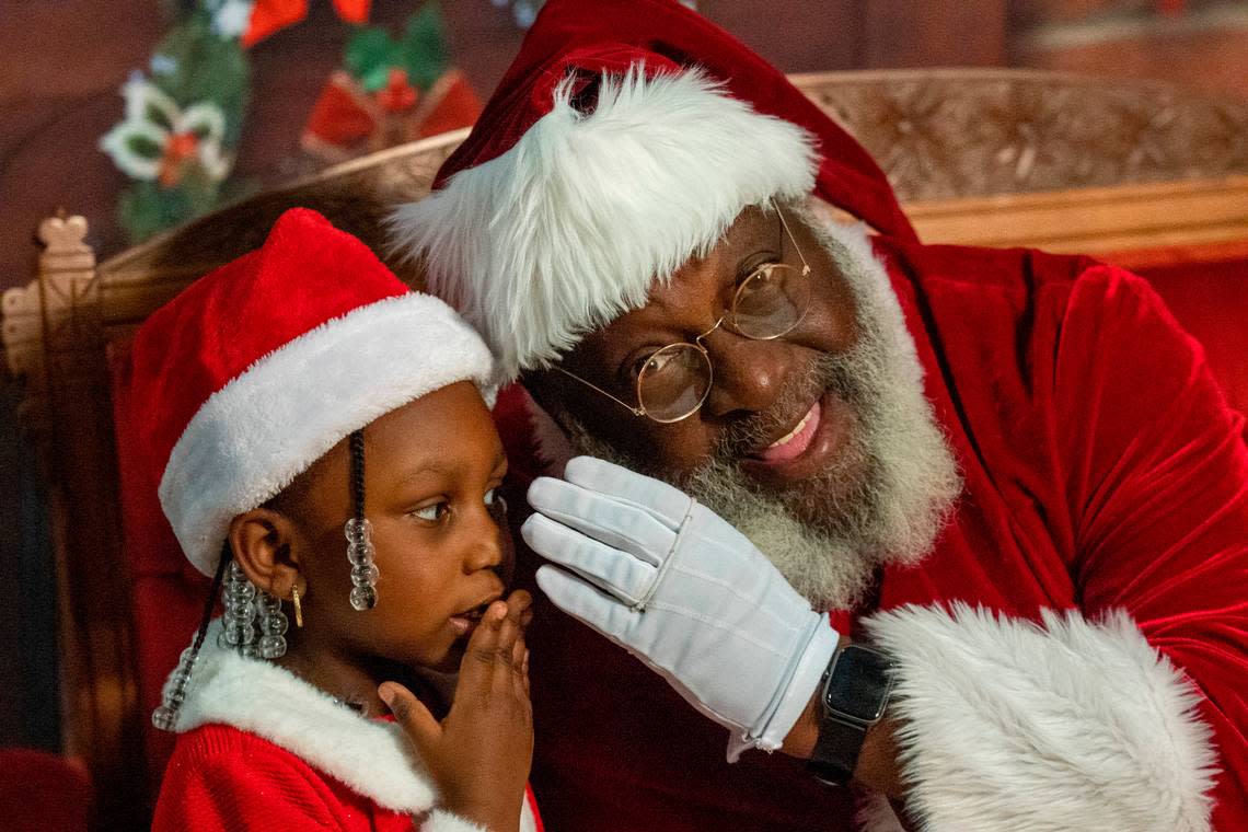
[[[477,388],[459,382],[364,428],[364,516],[377,605],[352,609],[343,524],[352,516],[347,443],[308,472],[292,558],[307,584],[301,647],[338,659],[454,670],[477,616],[510,580],[495,495],[507,459]],[[295,551],[300,549],[301,551]]]

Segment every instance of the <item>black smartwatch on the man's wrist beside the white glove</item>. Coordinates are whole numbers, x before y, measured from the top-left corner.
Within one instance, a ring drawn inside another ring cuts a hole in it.
[[[832,654],[820,692],[819,741],[806,763],[816,780],[845,786],[867,730],[884,717],[892,691],[892,662],[879,650],[849,644]]]

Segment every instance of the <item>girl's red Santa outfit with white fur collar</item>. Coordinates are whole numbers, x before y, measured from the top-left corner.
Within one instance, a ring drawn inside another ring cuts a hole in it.
[[[157,832],[341,830],[483,832],[436,808],[438,791],[402,728],[368,720],[208,632],[178,716]],[[527,795],[522,832],[540,832]]]

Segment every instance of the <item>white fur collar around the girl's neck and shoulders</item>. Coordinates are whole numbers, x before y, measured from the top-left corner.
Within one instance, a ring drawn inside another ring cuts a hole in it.
[[[483,832],[437,808],[437,786],[397,723],[366,718],[283,667],[218,646],[221,630],[220,619],[208,627],[177,713],[178,733],[228,725],[290,751],[383,808],[428,813],[422,830]],[[535,828],[525,800],[520,831]]]

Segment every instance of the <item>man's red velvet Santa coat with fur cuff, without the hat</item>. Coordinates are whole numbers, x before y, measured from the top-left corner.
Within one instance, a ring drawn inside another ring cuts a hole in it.
[[[1248,450],[1243,418],[1199,346],[1142,281],[1087,259],[877,248],[966,483],[935,550],[916,568],[887,570],[877,601],[840,619],[864,635],[875,610],[930,605],[872,627],[914,660],[909,684],[932,700],[912,721],[909,747],[929,752],[912,771],[930,778],[936,803],[973,798],[973,788],[958,793],[961,778],[983,788],[993,777],[1032,803],[1094,787],[1097,766],[1138,765],[1114,760],[1101,740],[1136,716],[1116,704],[1183,696],[1183,682],[1148,672],[1152,645],[1203,695],[1198,718],[1213,730],[1222,770],[1214,828],[1243,828]],[[513,463],[532,459],[519,409],[507,427]],[[934,606],[951,601],[1003,617],[955,622]],[[1022,644],[1035,634],[1016,627],[1043,609],[1078,610],[1073,635]],[[1129,619],[1098,627],[1111,610]],[[724,731],[595,632],[543,605],[532,634],[533,777],[552,828],[855,828],[850,793],[815,782],[800,762],[753,752],[728,765]],[[1169,713],[1171,723],[1134,726],[1161,755],[1139,776],[1198,781],[1202,725],[1181,707]],[[1008,732],[998,730],[1006,717],[1017,722]],[[1045,742],[1085,760],[1093,778],[1071,763],[1002,765],[1012,747]],[[997,828],[1021,828],[1010,825],[1020,817],[1010,801],[985,812]],[[890,828],[887,816],[864,816],[866,828]]]

